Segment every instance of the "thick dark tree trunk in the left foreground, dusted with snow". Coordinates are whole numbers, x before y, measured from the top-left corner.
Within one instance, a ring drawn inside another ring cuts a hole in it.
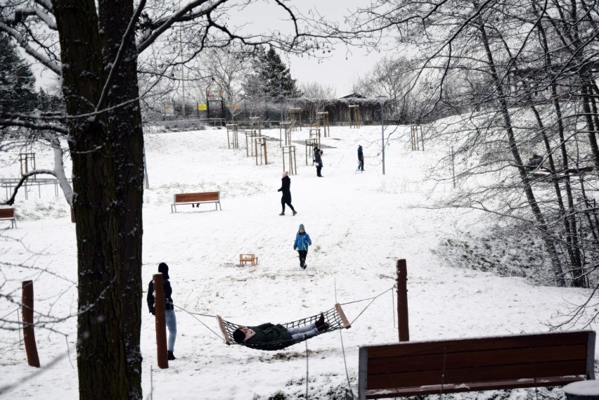
[[[122,37],[123,21],[131,18],[132,6],[99,3],[106,15],[115,16],[110,22],[98,18],[94,0],[54,0],[53,7],[67,115],[92,113],[118,49],[115,38]],[[113,25],[103,29],[108,23]],[[112,37],[105,36],[108,32]],[[77,216],[80,399],[142,398],[143,138],[137,80],[131,72],[136,54],[129,50],[110,85],[107,105],[131,103],[96,117],[70,120],[69,125]]]

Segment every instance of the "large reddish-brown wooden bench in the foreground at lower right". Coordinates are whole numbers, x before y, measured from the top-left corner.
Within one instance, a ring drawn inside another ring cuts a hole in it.
[[[592,330],[360,347],[359,398],[567,385],[594,361]]]

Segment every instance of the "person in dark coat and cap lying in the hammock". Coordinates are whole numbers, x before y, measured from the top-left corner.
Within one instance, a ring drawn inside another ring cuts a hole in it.
[[[327,330],[329,327],[330,325],[324,321],[324,316],[321,313],[316,323],[289,330],[283,325],[273,325],[272,323],[263,323],[258,326],[240,326],[233,332],[233,340],[238,343],[261,344],[306,339],[318,335],[318,333]]]

